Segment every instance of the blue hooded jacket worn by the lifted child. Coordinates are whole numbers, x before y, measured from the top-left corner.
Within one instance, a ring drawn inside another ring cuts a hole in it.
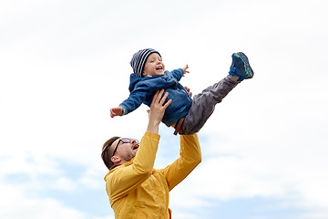
[[[181,68],[173,71],[165,71],[164,76],[145,78],[138,78],[132,73],[128,87],[130,95],[128,99],[119,104],[124,109],[123,115],[136,110],[141,103],[150,107],[156,91],[164,89],[165,92],[169,92],[166,102],[169,99],[172,99],[172,102],[169,104],[167,110],[165,110],[162,122],[168,127],[173,125],[188,114],[192,102],[189,92],[179,83],[179,79],[183,75],[184,72]]]

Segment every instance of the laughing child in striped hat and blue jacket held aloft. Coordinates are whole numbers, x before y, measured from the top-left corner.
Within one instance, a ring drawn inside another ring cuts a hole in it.
[[[232,54],[229,75],[218,83],[201,91],[193,99],[190,93],[179,84],[188,66],[171,72],[165,71],[164,63],[158,51],[152,48],[141,49],[130,61],[133,72],[130,75],[128,99],[110,110],[110,116],[123,116],[136,110],[141,103],[150,106],[158,89],[169,92],[167,99],[172,102],[165,110],[162,122],[175,128],[174,134],[190,135],[198,132],[209,119],[215,105],[235,88],[243,79],[253,77],[248,58],[241,52]]]

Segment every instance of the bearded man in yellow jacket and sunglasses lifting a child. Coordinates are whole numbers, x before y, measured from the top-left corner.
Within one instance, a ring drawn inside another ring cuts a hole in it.
[[[159,123],[171,100],[157,91],[150,105],[149,125],[138,141],[113,137],[105,142],[102,159],[110,170],[105,176],[115,218],[171,218],[169,191],[201,162],[197,134],[180,136],[180,157],[164,169],[153,169],[159,146]]]

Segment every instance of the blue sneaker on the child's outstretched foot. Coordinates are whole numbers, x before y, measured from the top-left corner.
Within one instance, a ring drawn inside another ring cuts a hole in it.
[[[238,81],[253,77],[254,72],[245,54],[242,52],[232,54],[232,64],[229,74],[239,76]]]

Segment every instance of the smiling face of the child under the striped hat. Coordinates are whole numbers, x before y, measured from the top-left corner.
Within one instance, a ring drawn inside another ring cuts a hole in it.
[[[164,63],[158,53],[152,53],[146,60],[143,76],[163,76]]]

